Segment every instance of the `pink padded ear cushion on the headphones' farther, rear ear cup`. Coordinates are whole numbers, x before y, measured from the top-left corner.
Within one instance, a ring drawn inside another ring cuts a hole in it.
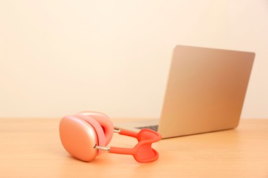
[[[107,144],[109,144],[109,142],[113,138],[113,123],[110,120],[109,116],[101,112],[78,112],[78,114],[89,116],[98,121],[104,131],[105,146],[107,146]]]

